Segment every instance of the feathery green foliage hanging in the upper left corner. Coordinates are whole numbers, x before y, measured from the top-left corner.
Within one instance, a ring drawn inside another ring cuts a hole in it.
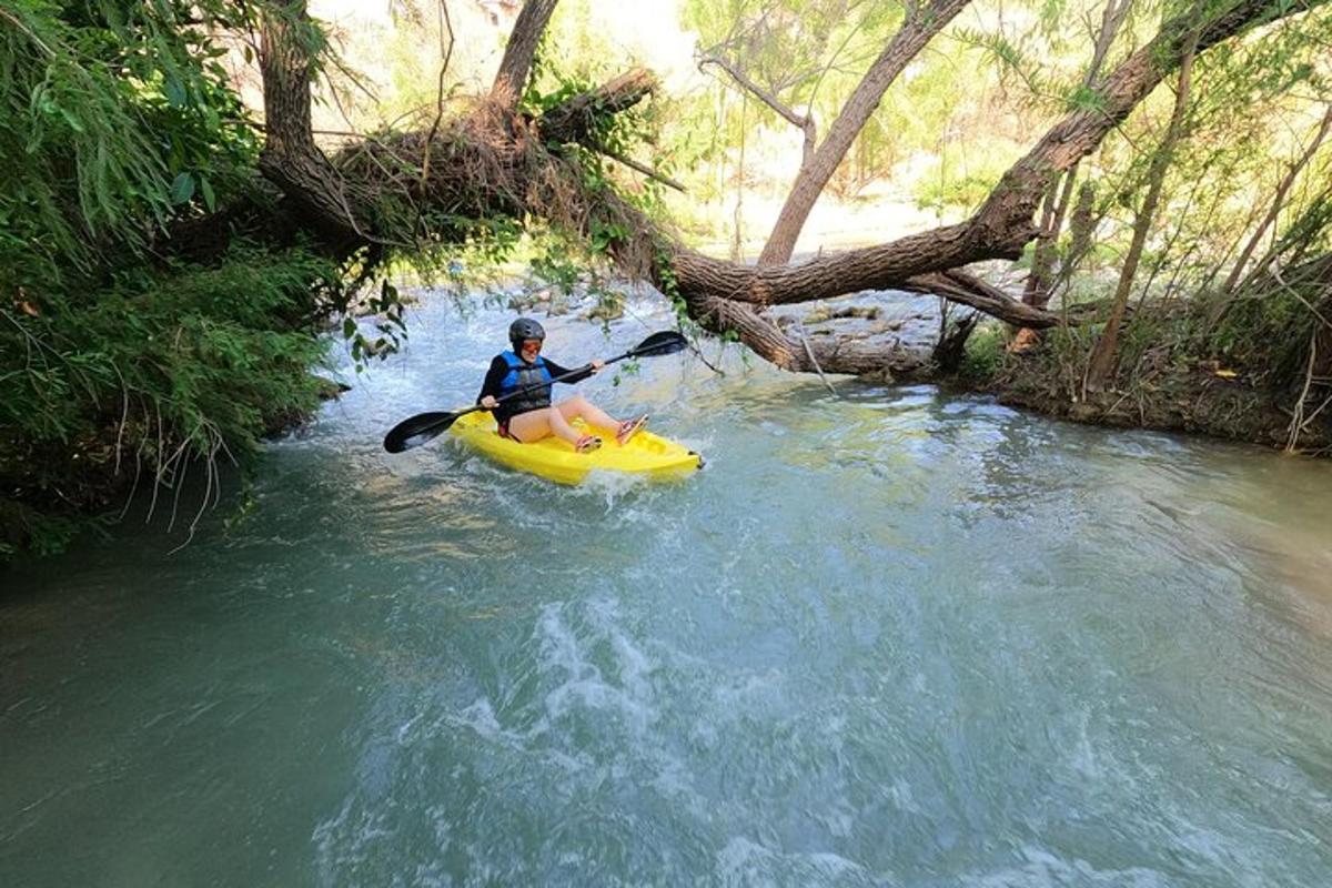
[[[152,228],[216,205],[257,152],[208,33],[244,7],[76,9],[20,0],[0,31],[0,218],[28,245],[20,282],[141,249]]]

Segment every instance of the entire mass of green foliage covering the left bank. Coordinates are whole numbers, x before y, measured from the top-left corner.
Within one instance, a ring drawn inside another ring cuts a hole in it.
[[[217,35],[262,8],[0,11],[0,558],[59,550],[135,483],[245,463],[317,403],[344,269],[301,249],[237,246],[209,268],[157,249],[250,193],[258,140]]]

